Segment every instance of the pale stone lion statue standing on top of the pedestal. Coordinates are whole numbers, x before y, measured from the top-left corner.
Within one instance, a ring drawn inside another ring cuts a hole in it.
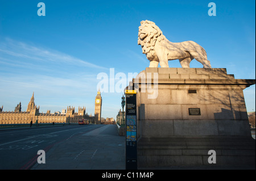
[[[176,59],[179,59],[182,68],[189,68],[193,58],[203,64],[204,68],[212,68],[203,47],[194,41],[172,43],[149,20],[142,21],[139,26],[138,45],[141,45],[142,53],[150,60],[150,68],[157,68],[159,63],[162,68],[168,68],[168,60]]]

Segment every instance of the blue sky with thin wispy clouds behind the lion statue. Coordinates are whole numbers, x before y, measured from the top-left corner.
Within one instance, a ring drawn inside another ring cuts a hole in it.
[[[38,16],[39,2],[46,16]],[[209,2],[216,16],[209,16]],[[192,40],[212,68],[255,79],[255,1],[0,1],[0,106],[26,111],[33,91],[40,112],[85,106],[94,115],[99,73],[139,73],[149,66],[138,27],[151,20],[173,42]],[[179,61],[169,66],[181,68]],[[192,68],[203,68],[193,60]],[[109,79],[109,81],[111,81]],[[129,80],[128,80],[129,81]],[[128,82],[127,81],[127,82]],[[115,80],[115,83],[117,80]],[[244,91],[255,111],[255,85]],[[102,117],[116,117],[122,92],[102,92]]]

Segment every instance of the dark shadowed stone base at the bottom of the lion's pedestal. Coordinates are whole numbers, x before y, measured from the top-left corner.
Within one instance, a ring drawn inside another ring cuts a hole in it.
[[[209,150],[216,152],[216,163],[208,162]],[[138,169],[171,169],[173,166],[255,169],[255,140],[243,136],[141,138]]]

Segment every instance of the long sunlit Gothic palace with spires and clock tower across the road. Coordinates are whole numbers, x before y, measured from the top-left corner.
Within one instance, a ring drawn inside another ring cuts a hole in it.
[[[19,103],[14,111],[3,111],[3,106],[0,107],[0,124],[30,124],[36,123],[78,123],[79,119],[86,119],[89,123],[101,124],[101,105],[102,98],[100,90],[95,98],[94,116],[85,113],[85,107],[79,107],[78,112],[75,112],[75,107],[68,106],[67,110],[62,112],[40,113],[39,106],[34,102],[34,92],[27,106],[27,111],[21,111],[21,103]]]

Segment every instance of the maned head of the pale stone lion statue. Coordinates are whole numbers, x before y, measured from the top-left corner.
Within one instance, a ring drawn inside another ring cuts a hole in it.
[[[148,60],[155,60],[156,40],[165,39],[162,31],[154,22],[145,20],[141,22],[138,33],[138,45],[141,45],[142,53],[146,54]]]

